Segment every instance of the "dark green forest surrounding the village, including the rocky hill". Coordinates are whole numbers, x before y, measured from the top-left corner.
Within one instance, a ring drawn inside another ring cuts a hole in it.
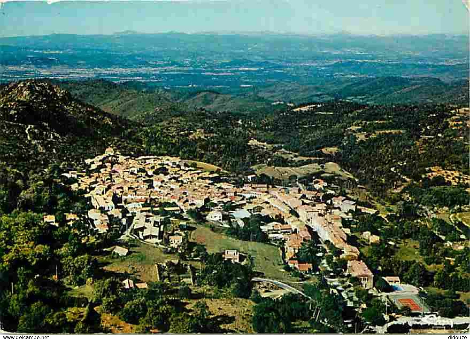
[[[86,98],[84,95],[82,99]],[[149,107],[153,105],[150,102]],[[121,292],[120,282],[106,276],[96,259],[98,249],[112,245],[115,235],[90,234],[84,221],[65,223],[65,213],[82,215],[89,206],[80,192],[67,189],[61,174],[83,168],[84,159],[102,153],[108,146],[129,155],[173,155],[200,160],[235,174],[252,174],[252,166],[273,162],[298,166],[295,160],[276,160],[276,149],[251,145],[252,139],[282,144],[282,148],[300,156],[320,158],[315,162],[321,164],[336,162],[369,189],[373,197],[396,204],[398,212],[389,214],[388,221],[377,216],[357,217],[358,231],[371,231],[385,239],[414,240],[419,243],[424,264],[398,259],[394,255],[396,249],[386,243],[370,246],[364,261],[374,271],[380,268],[381,274],[399,275],[417,286],[445,289],[447,295],[430,294],[427,300],[443,315],[461,314],[462,303],[456,302],[453,292],[468,291],[469,257],[465,251],[442,245],[459,240],[469,230],[463,224],[423,219],[421,214],[426,207],[458,211],[469,203],[469,183],[464,178],[451,185],[446,178],[425,176],[431,166],[455,171],[458,176],[469,174],[469,146],[464,138],[469,129],[462,117],[457,117],[462,124],[450,124],[455,106],[377,106],[346,101],[308,105],[312,108],[304,111],[293,107],[286,112],[251,113],[153,108],[138,116],[138,121],[130,121],[85,104],[49,83],[26,81],[3,88],[2,327],[19,332],[102,332],[105,330],[97,325],[94,314],[94,307],[100,305],[129,322],[136,323],[139,316],[141,332],[153,328],[169,332],[219,332],[207,305],[200,303],[192,312],[185,309],[181,300],[190,295],[187,289],[175,292],[156,285],[145,293]],[[337,152],[326,154],[322,151],[326,147],[336,147]],[[266,182],[272,180],[266,178]],[[400,186],[404,189],[395,190]],[[57,227],[43,222],[45,213],[55,215]],[[266,242],[260,224],[252,218],[246,220],[245,227],[232,227],[227,233],[241,240]],[[301,258],[315,266],[313,254],[317,246],[313,241],[300,251]],[[450,263],[446,257],[456,260]],[[322,309],[328,317],[328,326],[313,321],[312,311],[296,297],[288,295],[277,303],[252,296],[250,280],[254,272],[250,264],[230,264],[216,255],[204,254],[202,258],[204,270],[199,280],[203,284],[226,289],[233,297],[251,297],[256,302],[253,328],[258,332],[291,332],[296,329],[292,325],[294,319],[309,321],[323,332],[345,329],[342,303],[329,295],[322,282],[314,288],[306,287],[305,293],[313,299],[314,308]],[[345,265],[333,264],[332,258],[329,264],[336,266],[334,269]],[[439,264],[439,269],[430,271],[427,266],[433,264]],[[56,271],[61,273],[58,278]],[[71,286],[82,285],[90,278],[96,282],[93,299],[84,301],[67,294]],[[232,285],[229,279],[239,281]],[[363,319],[382,323],[377,311],[383,306],[369,300]],[[87,307],[81,318],[71,321],[66,316],[68,308],[83,306]]]

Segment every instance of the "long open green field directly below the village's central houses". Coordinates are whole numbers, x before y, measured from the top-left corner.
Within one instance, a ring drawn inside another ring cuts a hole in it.
[[[243,254],[251,255],[255,262],[255,270],[265,273],[267,278],[293,280],[287,272],[282,270],[283,262],[280,250],[273,245],[236,240],[223,234],[214,233],[208,227],[202,226],[198,226],[196,230],[191,232],[190,240],[204,244],[209,253],[236,249]]]

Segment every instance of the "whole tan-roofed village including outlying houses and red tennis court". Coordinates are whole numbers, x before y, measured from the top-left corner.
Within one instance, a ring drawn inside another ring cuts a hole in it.
[[[217,228],[220,234],[233,235],[231,230],[243,229],[255,218],[262,221],[257,226],[263,234],[261,240],[259,233],[254,235],[252,231],[245,240],[277,247],[283,262],[277,270],[285,272],[284,279],[301,283],[322,278],[330,294],[338,296],[355,312],[367,308],[361,302],[363,294],[384,301],[384,306],[391,303],[395,311],[409,309],[408,314],[397,312],[401,317],[396,321],[398,324],[407,323],[409,313],[430,313],[420,295],[423,288],[409,284],[408,276],[406,283],[401,282],[399,276],[374,277],[362,260],[367,254],[358,249],[357,237],[361,249],[365,249],[364,244],[370,248],[382,245],[381,242],[394,243],[381,240],[370,231],[360,234],[357,230],[352,231],[358,216],[372,217],[379,212],[357,204],[333,182],[313,178],[305,185],[291,182],[290,187],[259,184],[254,175],[231,175],[219,168],[214,170],[176,157],[128,157],[112,148],[93,159],[86,159],[85,163],[84,171],[69,171],[63,176],[71,190],[87,197],[90,209],[86,216],[67,214],[66,220],[68,223],[75,219],[86,221],[98,234],[118,230],[120,240],[111,250],[117,257],[128,256],[131,249],[125,245],[133,240],[158,247],[166,254],[180,254],[180,259],[187,258],[193,230],[202,226],[210,228],[204,230]],[[52,215],[45,216],[44,221],[55,223]],[[195,241],[199,244],[197,238]],[[219,248],[219,254],[233,264],[246,265],[252,259],[250,251],[235,248]],[[305,249],[308,249],[308,256],[305,256]],[[191,261],[200,261],[192,254]],[[279,259],[277,255],[271,256],[274,257],[265,257],[262,261]],[[195,262],[191,261],[183,264],[180,260],[166,259],[163,263],[155,263],[155,278],[157,281],[172,280],[171,267],[176,265],[184,268],[182,270],[189,276],[187,284],[197,285],[199,274]],[[198,266],[201,272],[201,266]],[[273,278],[264,269],[263,265],[258,267],[260,277],[251,279],[256,281],[258,293],[279,294],[274,295],[278,297],[288,292],[303,295],[297,288],[279,281],[280,273]],[[292,284],[295,286],[295,282]],[[379,284],[388,288],[377,290]],[[122,282],[125,290],[147,287],[147,282],[134,283],[129,278]],[[463,319],[457,321],[464,322]],[[443,318],[439,322],[452,325],[457,321]],[[347,327],[352,327],[352,321],[347,322]],[[435,322],[426,321],[427,324]],[[383,330],[377,328],[376,332]]]

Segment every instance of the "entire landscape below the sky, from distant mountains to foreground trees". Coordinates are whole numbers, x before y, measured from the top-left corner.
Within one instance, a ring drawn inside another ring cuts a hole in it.
[[[468,37],[121,33],[3,42],[0,332],[469,332]]]

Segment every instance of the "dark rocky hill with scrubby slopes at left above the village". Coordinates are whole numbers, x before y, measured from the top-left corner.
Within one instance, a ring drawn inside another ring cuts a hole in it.
[[[80,162],[111,144],[130,144],[132,128],[46,81],[11,83],[0,91],[0,161],[14,167]]]

